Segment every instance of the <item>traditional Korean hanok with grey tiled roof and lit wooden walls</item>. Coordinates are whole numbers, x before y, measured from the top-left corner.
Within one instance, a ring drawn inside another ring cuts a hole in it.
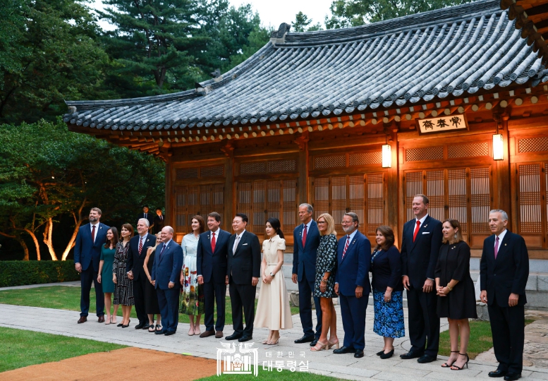
[[[277,217],[291,244],[301,202],[331,213],[339,234],[353,211],[372,241],[380,224],[401,237],[413,195],[425,193],[433,217],[461,221],[473,255],[490,234],[489,210],[501,208],[530,258],[548,260],[545,50],[499,0],[289,29],[193,90],[67,102],[64,121],[165,160],[178,241],[190,217],[216,210],[227,230],[245,212],[260,236]]]

